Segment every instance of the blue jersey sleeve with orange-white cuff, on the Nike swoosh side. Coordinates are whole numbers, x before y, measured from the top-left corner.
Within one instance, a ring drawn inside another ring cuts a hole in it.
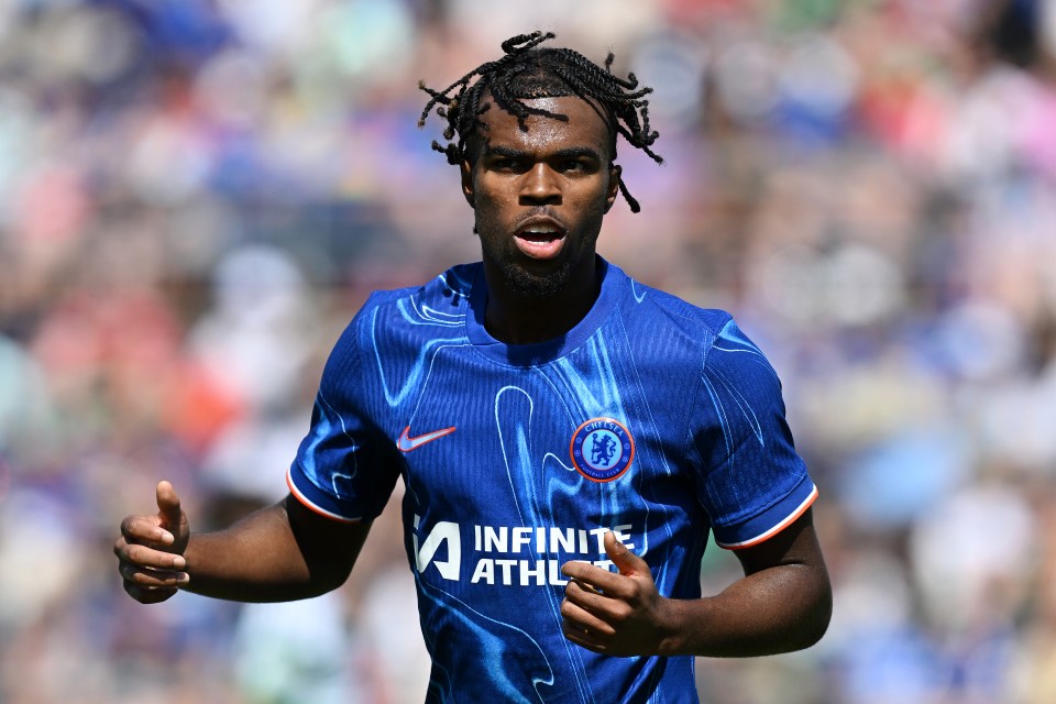
[[[378,430],[377,394],[364,374],[364,314],[341,336],[323,369],[311,425],[289,468],[289,491],[312,510],[338,520],[377,517],[398,477],[392,442]]]

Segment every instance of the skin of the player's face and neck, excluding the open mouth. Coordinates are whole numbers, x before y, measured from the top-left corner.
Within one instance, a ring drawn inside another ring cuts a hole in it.
[[[514,116],[492,108],[469,143],[472,161],[462,164],[487,279],[485,326],[513,344],[563,334],[594,305],[597,238],[620,173],[594,105],[574,97],[524,102],[568,122],[531,116],[521,130]],[[561,233],[556,252],[525,251],[518,235],[532,223]]]

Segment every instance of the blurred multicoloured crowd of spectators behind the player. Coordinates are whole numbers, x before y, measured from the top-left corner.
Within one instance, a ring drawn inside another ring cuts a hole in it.
[[[162,477],[280,497],[366,294],[477,257],[417,84],[535,29],[656,88],[601,251],[738,317],[821,487],[828,635],[703,700],[1056,701],[1053,0],[4,0],[0,703],[422,700],[395,510],[292,605],[142,606],[111,547]]]

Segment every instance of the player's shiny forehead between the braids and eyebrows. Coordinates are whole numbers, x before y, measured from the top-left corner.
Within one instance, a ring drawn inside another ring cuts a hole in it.
[[[535,110],[568,118],[565,121],[531,114],[525,120],[527,130],[521,130],[516,116],[499,108],[490,97],[487,101],[492,107],[481,116],[481,122],[486,125],[483,136],[491,147],[530,152],[588,147],[608,154],[612,132],[603,112],[582,98],[560,96],[521,100],[522,105]]]

